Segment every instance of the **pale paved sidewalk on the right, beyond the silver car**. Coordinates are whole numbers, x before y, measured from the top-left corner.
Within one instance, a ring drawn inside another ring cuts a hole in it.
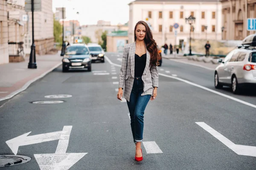
[[[213,64],[212,62],[204,62],[203,60],[201,60],[201,61],[193,60],[192,57],[183,56],[183,54],[178,54],[176,56],[176,58],[174,57],[174,54],[169,54],[169,55],[167,54],[166,56],[163,54],[162,57],[166,58],[166,59],[170,59],[175,62],[181,62],[184,64],[194,65],[194,66],[205,68],[208,70],[215,70],[215,68],[218,66],[217,60],[215,61],[215,64]],[[201,57],[201,58],[203,58],[203,57]]]

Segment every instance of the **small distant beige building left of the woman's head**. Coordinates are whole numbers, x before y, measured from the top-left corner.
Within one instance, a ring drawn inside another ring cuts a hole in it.
[[[107,35],[107,51],[123,52],[128,44],[128,31],[113,31]]]

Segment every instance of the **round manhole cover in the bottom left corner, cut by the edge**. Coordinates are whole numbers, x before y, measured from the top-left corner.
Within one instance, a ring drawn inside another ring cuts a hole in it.
[[[31,158],[22,155],[0,155],[0,167],[9,167],[18,164],[24,164],[30,161]]]

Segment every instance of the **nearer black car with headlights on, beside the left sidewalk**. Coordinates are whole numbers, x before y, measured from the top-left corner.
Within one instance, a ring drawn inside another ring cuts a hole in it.
[[[91,55],[87,45],[72,44],[66,48],[65,55],[62,59],[62,71],[67,72],[70,69],[92,70]]]

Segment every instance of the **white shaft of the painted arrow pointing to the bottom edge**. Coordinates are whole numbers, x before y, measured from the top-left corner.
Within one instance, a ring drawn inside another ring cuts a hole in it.
[[[66,153],[72,126],[64,126],[55,153]]]

